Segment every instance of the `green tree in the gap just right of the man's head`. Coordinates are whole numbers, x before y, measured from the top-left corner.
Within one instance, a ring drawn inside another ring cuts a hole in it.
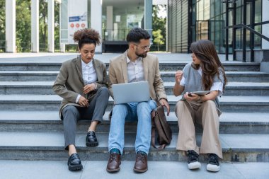
[[[166,17],[159,16],[160,11],[166,11],[166,6],[165,5],[154,5],[153,6],[153,11],[152,11],[152,29],[153,32],[156,32],[157,30],[161,30],[160,34],[162,35],[162,42],[163,44],[158,44],[159,40],[155,40],[157,36],[153,35],[153,44],[157,45],[158,50],[159,50],[159,45],[166,45]],[[152,32],[152,33],[153,33]],[[165,48],[164,48],[165,50]]]

